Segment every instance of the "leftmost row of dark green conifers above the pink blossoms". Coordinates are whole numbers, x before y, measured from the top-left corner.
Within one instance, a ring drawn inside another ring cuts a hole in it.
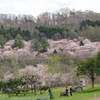
[[[20,27],[18,27],[17,29],[15,28],[4,29],[4,26],[3,25],[1,26],[0,35],[3,35],[6,41],[15,39],[18,34],[25,41],[28,41],[31,39],[31,33],[29,30],[21,30]]]

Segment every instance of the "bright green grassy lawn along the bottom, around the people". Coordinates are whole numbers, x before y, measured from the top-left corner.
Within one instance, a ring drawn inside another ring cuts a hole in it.
[[[60,93],[62,91],[65,91],[65,88],[53,88],[52,92],[54,94],[55,99],[54,100],[88,100],[90,98],[100,97],[100,86],[91,88],[91,87],[84,87],[82,92],[73,92],[73,96],[60,97]],[[49,98],[48,92],[45,92],[44,94],[33,95],[28,93],[26,96],[23,96],[23,94],[19,94],[18,97],[15,96],[15,94],[11,94],[11,98],[8,98],[7,94],[0,94],[0,99],[3,100],[36,100],[37,98]],[[48,99],[49,100],[49,99]]]

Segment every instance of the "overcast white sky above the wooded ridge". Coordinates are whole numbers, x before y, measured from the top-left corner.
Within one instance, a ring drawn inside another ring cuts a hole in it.
[[[54,12],[65,7],[99,13],[100,0],[0,0],[2,14],[31,14],[36,17],[43,12]]]

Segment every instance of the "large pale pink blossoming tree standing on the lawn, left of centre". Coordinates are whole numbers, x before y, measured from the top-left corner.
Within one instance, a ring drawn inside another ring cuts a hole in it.
[[[19,76],[23,78],[23,81],[31,85],[31,89],[34,86],[34,94],[36,95],[36,85],[39,84],[40,80],[43,78],[43,66],[37,65],[34,66],[26,66],[26,68],[19,70]]]

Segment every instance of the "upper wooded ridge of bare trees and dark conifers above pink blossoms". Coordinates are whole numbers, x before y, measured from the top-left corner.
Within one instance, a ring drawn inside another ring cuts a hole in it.
[[[100,41],[100,14],[93,11],[74,11],[63,8],[55,13],[45,12],[35,18],[33,15],[0,14],[0,35],[6,41],[15,39],[17,34],[24,40],[59,40],[79,36]]]

